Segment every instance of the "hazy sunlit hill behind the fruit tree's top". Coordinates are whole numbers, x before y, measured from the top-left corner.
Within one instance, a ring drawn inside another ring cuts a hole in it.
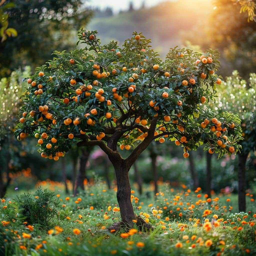
[[[163,58],[169,48],[198,36],[191,31],[205,25],[212,8],[211,1],[205,0],[167,1],[110,17],[93,17],[86,29],[98,30],[103,43],[116,40],[121,44],[133,31],[143,32]],[[199,45],[200,40],[199,36]]]

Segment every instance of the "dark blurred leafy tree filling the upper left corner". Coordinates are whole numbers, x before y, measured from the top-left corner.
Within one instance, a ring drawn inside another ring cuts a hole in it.
[[[5,60],[0,63],[0,75],[8,76],[12,70],[24,65],[34,69],[38,62],[45,63],[50,59],[55,49],[70,49],[73,36],[76,36],[72,29],[79,29],[81,21],[85,25],[92,14],[84,9],[83,2],[17,0],[14,4],[6,0],[1,9],[9,16],[9,27],[17,30],[18,35],[0,44],[0,58]]]

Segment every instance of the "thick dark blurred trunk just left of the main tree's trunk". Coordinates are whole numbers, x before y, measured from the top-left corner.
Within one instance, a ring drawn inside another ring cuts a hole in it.
[[[84,190],[83,181],[86,179],[86,164],[89,159],[90,153],[92,151],[92,147],[84,147],[82,148],[82,154],[79,159],[79,169],[78,175],[76,178],[76,183],[74,186],[74,194],[76,195],[79,192],[79,189]]]

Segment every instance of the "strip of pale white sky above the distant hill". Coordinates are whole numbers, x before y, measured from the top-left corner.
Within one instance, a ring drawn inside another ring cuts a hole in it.
[[[165,1],[166,0],[87,0],[86,5],[91,7],[100,7],[101,9],[111,7],[114,13],[118,13],[120,10],[127,10],[129,8],[130,2],[132,2],[133,7],[137,9],[142,5],[143,2],[145,2],[146,7],[150,7]]]

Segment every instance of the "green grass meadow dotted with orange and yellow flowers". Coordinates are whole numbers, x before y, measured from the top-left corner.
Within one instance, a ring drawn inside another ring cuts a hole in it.
[[[154,225],[155,229],[142,233],[134,224],[135,230],[132,230],[134,232],[129,230],[109,232],[106,228],[120,220],[115,188],[108,190],[104,183],[97,182],[88,185],[79,195],[67,196],[62,187],[56,185],[55,193],[51,197],[43,190],[48,183],[44,184],[42,190],[33,191],[35,193],[33,196],[24,194],[21,203],[17,198],[13,200],[8,195],[5,201],[0,201],[2,222],[0,254],[253,255],[256,253],[254,225],[256,209],[254,202],[250,201],[250,196],[247,207],[251,212],[236,214],[234,210],[237,208],[237,195],[215,194],[212,195],[211,201],[208,199],[207,202],[201,190],[190,191],[184,185],[179,188],[161,185],[161,192],[151,198],[146,196],[152,194],[149,186],[145,189],[150,193],[144,193],[141,197],[135,189],[132,191],[134,211]],[[39,195],[38,198],[35,198],[36,195]],[[46,198],[49,200],[46,201]],[[26,214],[22,208],[24,201]],[[46,209],[54,210],[54,207],[60,206],[55,209],[57,214],[53,214],[49,222],[43,221],[49,216],[47,211],[44,215],[38,207],[42,201]],[[6,208],[3,208],[4,206]],[[41,221],[29,215],[38,215],[38,211],[41,214]]]

